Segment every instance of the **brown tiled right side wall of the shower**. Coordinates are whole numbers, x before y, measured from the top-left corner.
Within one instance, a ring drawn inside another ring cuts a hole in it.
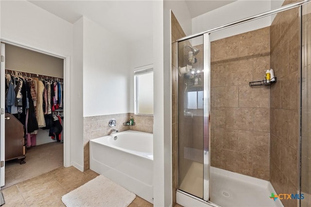
[[[276,193],[296,193],[298,189],[298,12],[295,8],[277,14],[270,30],[271,67],[277,76],[270,95],[270,181]],[[296,200],[281,201],[285,207],[297,206]]]

